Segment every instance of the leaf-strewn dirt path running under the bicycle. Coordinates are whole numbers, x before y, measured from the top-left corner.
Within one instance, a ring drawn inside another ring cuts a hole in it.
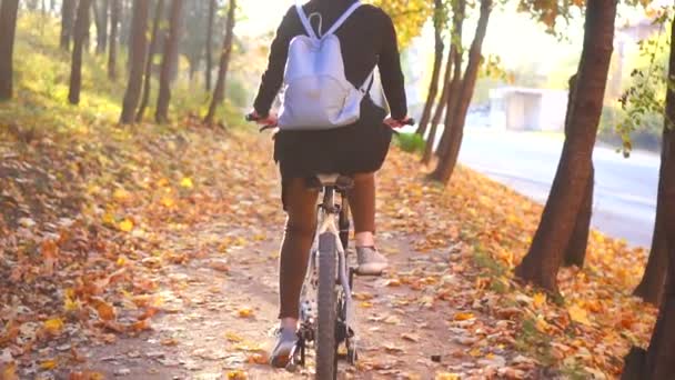
[[[213,154],[244,151],[261,156],[270,149],[268,141],[258,146],[249,140],[223,141]],[[148,213],[151,208],[128,210],[144,216],[141,226],[148,229],[139,234],[145,240],[142,244],[129,246],[128,256],[113,261],[125,277],[124,287],[132,288],[111,289],[117,294],[110,298],[112,303],[90,299],[99,302],[93,303],[100,317],[95,329],[57,327],[58,338],[22,357],[19,351],[0,350],[2,356],[21,358],[17,371],[21,378],[313,376],[312,360],[296,373],[266,366],[276,326],[276,263],[283,224],[274,167],[266,156],[265,164],[254,169],[243,156],[236,156],[238,160],[216,158],[220,166],[210,164],[204,154],[199,160],[190,159],[194,154],[181,157],[187,170],[193,168],[194,176],[202,179],[200,192],[180,190],[187,196],[177,207],[162,199],[172,210],[169,214]],[[405,170],[397,164],[387,163],[379,182],[379,246],[387,254],[391,270],[383,278],[355,282],[361,360],[355,368],[341,366],[341,377],[536,378],[533,360],[506,349],[515,341],[510,333],[517,310],[497,312],[503,320],[490,317],[495,314],[498,296],[482,291],[486,282],[475,276],[473,253],[460,241],[456,222],[427,214],[437,206],[424,194],[437,190],[423,187],[415,177],[402,183],[396,173]],[[187,187],[192,188],[191,180]],[[402,192],[420,197],[404,198]],[[153,220],[154,216],[162,219]],[[102,321],[111,307],[118,311],[112,313],[112,322],[123,323],[124,330],[115,331],[119,324]],[[152,312],[152,318],[139,317],[143,310]],[[105,332],[105,328],[112,331]]]

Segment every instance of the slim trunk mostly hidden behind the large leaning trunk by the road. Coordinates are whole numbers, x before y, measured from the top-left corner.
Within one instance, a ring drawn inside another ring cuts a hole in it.
[[[570,78],[570,94],[567,97],[567,113],[565,114],[565,137],[573,133],[571,111],[576,100],[576,74]],[[576,266],[582,268],[586,259],[586,249],[588,248],[588,234],[591,229],[591,217],[593,216],[593,189],[595,187],[595,168],[591,164],[591,178],[586,183],[584,191],[584,201],[580,212],[576,214],[574,230],[565,249],[563,264],[566,267]]]

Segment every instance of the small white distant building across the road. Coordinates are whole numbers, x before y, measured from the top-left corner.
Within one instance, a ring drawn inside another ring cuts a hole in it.
[[[490,127],[514,131],[562,131],[567,91],[502,87],[490,90]]]

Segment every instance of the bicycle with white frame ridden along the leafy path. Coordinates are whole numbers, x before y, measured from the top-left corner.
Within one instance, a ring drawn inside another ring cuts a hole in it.
[[[249,114],[246,121],[258,120]],[[414,124],[414,120],[409,119],[406,124]],[[260,131],[271,128],[275,126],[264,126]],[[321,189],[323,201],[318,206],[319,222],[301,291],[298,342],[286,369],[294,371],[304,367],[306,350],[313,344],[315,378],[336,379],[341,357],[352,366],[359,359],[352,304],[353,280],[359,272],[347,264],[351,228],[347,191],[353,180],[339,173],[319,173],[309,186]],[[345,348],[346,354],[339,354],[341,347]]]

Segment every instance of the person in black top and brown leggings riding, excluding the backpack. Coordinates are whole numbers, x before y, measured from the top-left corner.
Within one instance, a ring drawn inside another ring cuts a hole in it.
[[[302,9],[309,14],[316,36],[322,36],[354,2],[356,0],[311,0]],[[292,7],[272,42],[269,67],[251,113],[259,123],[276,123],[270,109],[283,82],[289,44],[294,37],[306,33],[299,12]],[[342,48],[345,77],[356,88],[370,81],[374,68],[379,68],[391,118],[385,120],[386,111],[365,96],[355,123],[314,131],[282,129],[275,136],[274,159],[280,164],[282,203],[288,213],[280,259],[281,326],[271,354],[272,363],[276,366],[284,366],[296,341],[300,293],[316,228],[319,192],[308,187],[308,179],[316,173],[341,173],[353,178],[349,202],[354,219],[357,270],[360,273],[379,274],[387,266],[386,258],[375,248],[374,172],[386,157],[391,128],[402,127],[409,120],[396,32],[384,11],[362,6],[335,31],[335,36]]]

